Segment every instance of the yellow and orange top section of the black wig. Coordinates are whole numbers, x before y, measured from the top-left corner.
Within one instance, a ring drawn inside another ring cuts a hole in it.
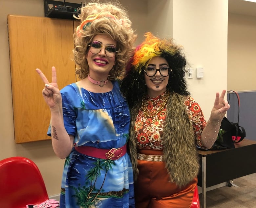
[[[141,70],[147,61],[153,57],[160,56],[162,52],[167,52],[174,55],[176,53],[175,47],[170,40],[155,37],[151,32],[145,33],[145,41],[142,42],[135,50],[132,65],[136,70]],[[161,50],[160,50],[161,48]]]

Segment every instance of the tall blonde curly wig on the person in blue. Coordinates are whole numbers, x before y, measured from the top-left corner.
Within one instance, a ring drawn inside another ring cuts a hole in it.
[[[109,73],[109,80],[121,77],[125,67],[133,55],[133,44],[137,35],[132,29],[127,10],[119,3],[91,2],[81,9],[79,16],[81,25],[74,33],[75,48],[73,50],[76,63],[75,73],[80,79],[89,74],[89,66],[85,55],[88,45],[95,35],[108,35],[117,42],[116,65]]]

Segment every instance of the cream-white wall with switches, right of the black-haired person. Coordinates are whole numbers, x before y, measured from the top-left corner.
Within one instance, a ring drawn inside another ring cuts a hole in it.
[[[193,68],[189,91],[207,120],[216,92],[227,88],[228,0],[175,0],[173,10],[174,39]],[[203,78],[196,77],[197,67],[204,68]]]

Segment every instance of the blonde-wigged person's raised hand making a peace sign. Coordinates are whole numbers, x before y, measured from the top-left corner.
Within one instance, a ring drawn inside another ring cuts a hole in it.
[[[57,84],[57,75],[56,75],[56,69],[53,66],[52,67],[52,82],[50,83],[48,79],[45,77],[43,72],[40,69],[36,69],[36,72],[39,74],[39,76],[42,78],[43,82],[45,83],[45,87],[42,91],[42,95],[44,97],[45,102],[49,106],[50,109],[56,107],[56,105],[62,104],[62,98],[60,95],[60,91],[58,89]]]

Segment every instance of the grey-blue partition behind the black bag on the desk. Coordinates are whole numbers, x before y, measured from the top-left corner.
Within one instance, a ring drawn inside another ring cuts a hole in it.
[[[240,97],[239,126],[245,128],[245,138],[256,141],[256,91],[237,91]],[[238,121],[238,103],[234,93],[227,94],[230,109],[227,118],[230,122]]]

